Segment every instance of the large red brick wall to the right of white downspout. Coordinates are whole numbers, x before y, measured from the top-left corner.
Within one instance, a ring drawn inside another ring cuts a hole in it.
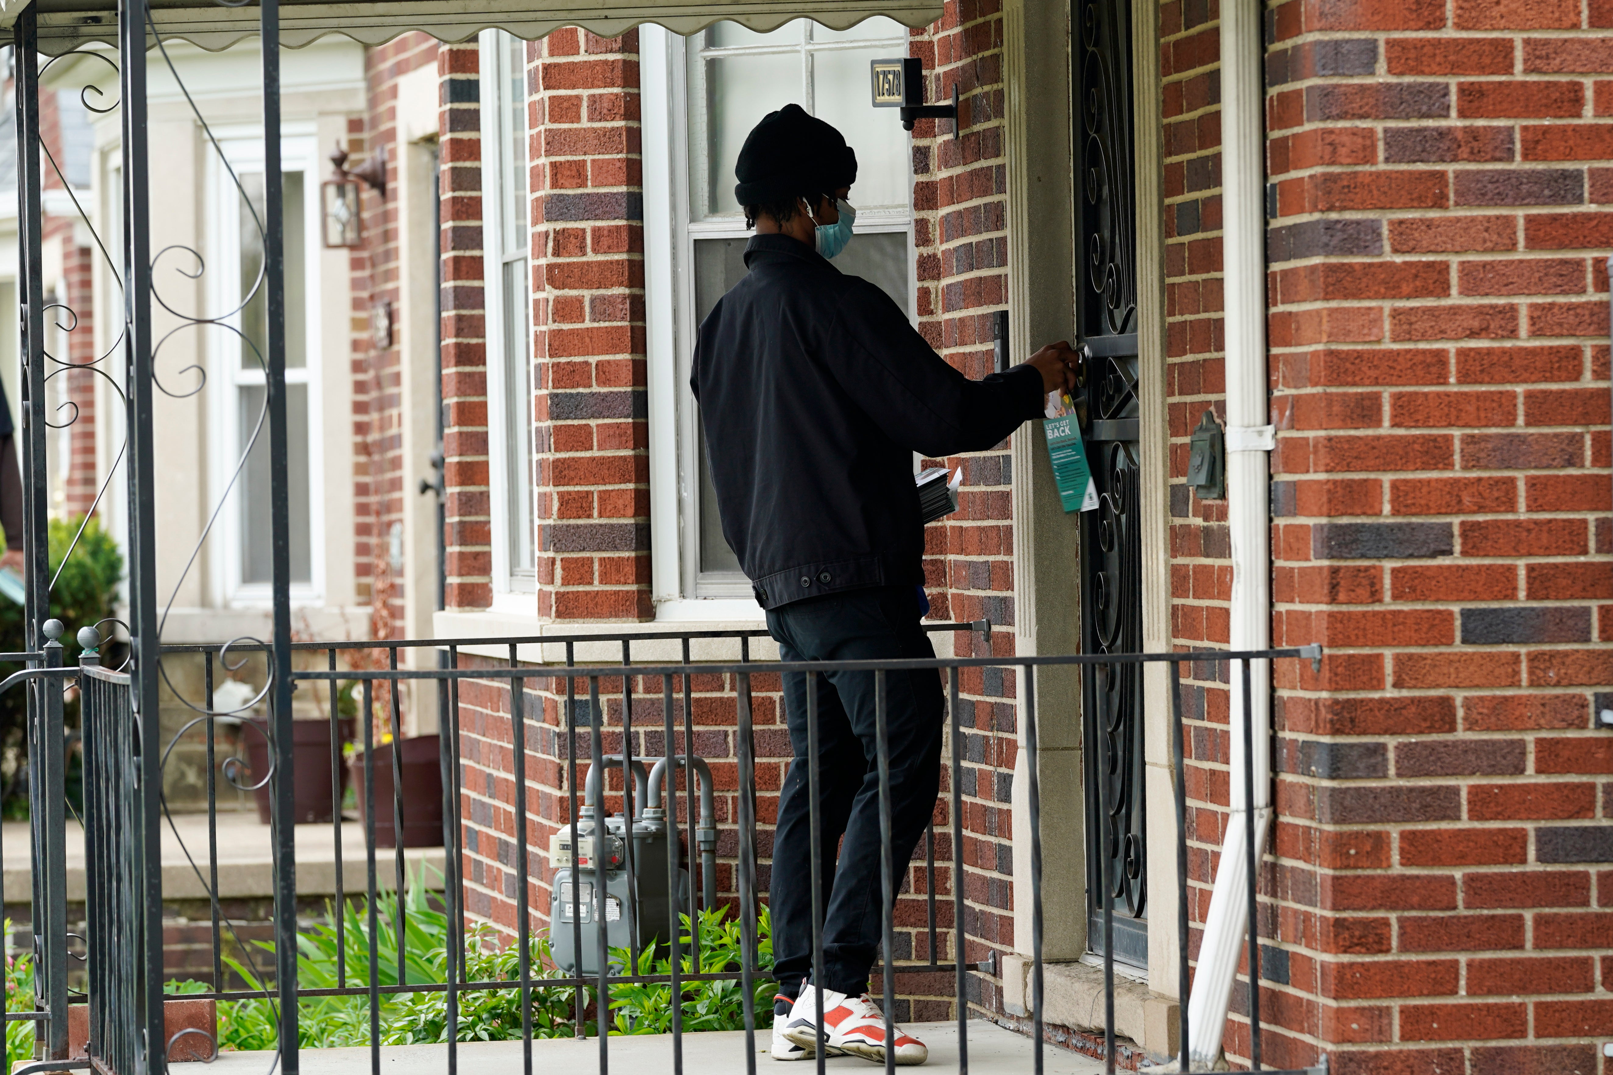
[[[1273,637],[1329,656],[1279,669],[1263,932],[1279,1056],[1347,1075],[1613,1033],[1603,6],[1268,15]]]

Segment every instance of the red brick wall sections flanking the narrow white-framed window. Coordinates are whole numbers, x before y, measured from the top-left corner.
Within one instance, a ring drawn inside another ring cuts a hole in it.
[[[531,408],[540,619],[644,621],[650,603],[637,34],[527,47]],[[444,74],[444,400],[452,609],[492,603],[477,53]]]

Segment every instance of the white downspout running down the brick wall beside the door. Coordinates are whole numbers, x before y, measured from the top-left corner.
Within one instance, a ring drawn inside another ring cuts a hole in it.
[[[1221,206],[1226,288],[1226,498],[1232,538],[1232,650],[1271,643],[1269,456],[1273,429],[1266,390],[1266,214],[1261,5],[1221,5]],[[1232,669],[1232,809],[1221,865],[1205,919],[1198,970],[1187,1002],[1192,1060],[1221,1054],[1226,1009],[1247,951],[1248,886],[1244,848],[1244,774],[1255,769],[1255,846],[1271,827],[1271,669],[1250,669],[1253,757],[1244,756],[1242,675]]]

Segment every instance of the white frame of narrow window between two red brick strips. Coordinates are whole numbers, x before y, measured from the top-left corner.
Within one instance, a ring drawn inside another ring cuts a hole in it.
[[[521,616],[536,616],[537,612],[537,525],[534,513],[532,525],[532,561],[531,569],[523,569],[513,564],[513,554],[510,548],[510,533],[513,521],[510,517],[510,501],[511,501],[511,482],[521,480],[519,475],[511,474],[508,464],[508,454],[505,446],[513,443],[516,437],[523,434],[519,430],[510,429],[508,421],[508,398],[511,387],[505,382],[505,369],[508,366],[505,355],[505,301],[503,301],[503,274],[505,266],[524,256],[527,261],[527,272],[531,274],[531,227],[526,227],[526,253],[511,253],[503,248],[505,227],[508,221],[505,219],[505,198],[502,190],[502,182],[505,176],[505,150],[506,143],[503,139],[503,124],[506,121],[506,103],[502,98],[503,87],[508,79],[505,50],[502,45],[506,42],[508,35],[503,31],[482,31],[477,44],[481,47],[481,137],[482,137],[482,295],[484,295],[484,311],[486,311],[486,351],[487,351],[487,480],[489,488],[489,516],[492,522],[492,569],[494,569],[494,595],[492,608],[494,611],[515,612]],[[527,100],[531,95],[527,95]],[[523,106],[519,122],[527,129],[527,139],[531,139],[531,126],[527,124],[526,108]],[[531,161],[527,161],[531,169]],[[531,203],[531,181],[527,182],[527,203]],[[527,293],[531,293],[531,280]],[[526,319],[526,347],[527,347],[527,395],[534,395],[534,366],[532,361],[532,326],[531,313],[524,311]],[[527,406],[531,413],[531,403]],[[534,466],[534,450],[532,450],[532,424],[527,422],[524,430],[524,438],[527,443],[527,466]],[[537,495],[529,482],[527,495]]]

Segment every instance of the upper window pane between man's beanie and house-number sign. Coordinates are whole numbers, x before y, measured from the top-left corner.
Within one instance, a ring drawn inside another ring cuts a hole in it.
[[[908,132],[897,108],[868,105],[868,64],[890,58],[890,47],[836,48],[813,53],[815,114],[857,150],[852,205],[908,203]]]

